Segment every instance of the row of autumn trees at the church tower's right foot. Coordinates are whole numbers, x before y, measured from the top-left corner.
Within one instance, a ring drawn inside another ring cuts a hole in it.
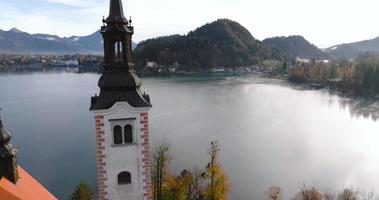
[[[194,168],[175,175],[169,165],[170,145],[156,145],[151,170],[153,200],[227,200],[228,179],[218,161],[219,151],[218,144],[212,142],[204,170]]]

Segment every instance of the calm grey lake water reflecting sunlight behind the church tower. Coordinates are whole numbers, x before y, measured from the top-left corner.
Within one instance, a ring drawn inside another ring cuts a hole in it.
[[[59,199],[81,178],[96,186],[88,111],[96,74],[0,75],[0,107],[18,161]],[[379,122],[366,101],[258,77],[150,78],[152,143],[168,139],[175,170],[204,167],[211,140],[231,200],[263,199],[271,185],[290,199],[303,181],[322,189],[379,191]],[[379,116],[379,115],[378,115]]]

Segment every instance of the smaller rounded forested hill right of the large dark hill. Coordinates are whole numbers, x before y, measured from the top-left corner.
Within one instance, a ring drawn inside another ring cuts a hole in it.
[[[309,59],[327,59],[328,55],[303,36],[273,37],[263,40],[263,43],[276,47],[293,56]]]

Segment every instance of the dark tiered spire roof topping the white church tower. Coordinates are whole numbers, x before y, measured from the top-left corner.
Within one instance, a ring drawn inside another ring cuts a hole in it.
[[[90,110],[106,110],[117,102],[135,108],[151,107],[149,95],[141,92],[141,80],[133,69],[131,20],[123,13],[121,0],[110,0],[109,17],[101,27],[104,65],[99,79],[99,96],[91,98]]]

